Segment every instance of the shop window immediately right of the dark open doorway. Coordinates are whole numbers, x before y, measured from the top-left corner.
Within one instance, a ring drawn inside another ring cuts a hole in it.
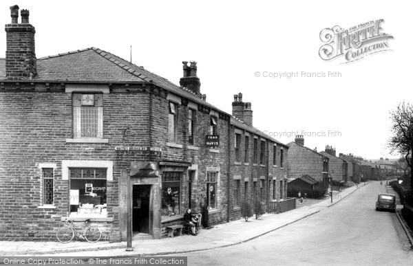
[[[162,174],[162,217],[180,214],[180,172]]]

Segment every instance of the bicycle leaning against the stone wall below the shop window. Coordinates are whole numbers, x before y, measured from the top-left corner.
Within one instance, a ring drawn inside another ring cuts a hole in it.
[[[81,239],[86,239],[87,242],[96,243],[100,240],[102,236],[102,230],[97,226],[87,225],[89,219],[84,221],[86,227],[82,233],[79,233],[76,229],[74,229],[72,223],[73,219],[66,219],[65,225],[59,228],[56,232],[56,238],[61,243],[69,243],[74,238],[74,234],[76,232],[76,236],[80,237]]]

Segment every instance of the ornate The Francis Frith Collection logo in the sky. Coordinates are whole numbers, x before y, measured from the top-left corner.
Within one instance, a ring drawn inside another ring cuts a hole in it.
[[[392,35],[383,32],[384,19],[368,21],[344,30],[340,26],[325,28],[320,32],[324,43],[319,49],[323,60],[332,60],[343,56],[350,63],[370,54],[389,51],[388,40]]]

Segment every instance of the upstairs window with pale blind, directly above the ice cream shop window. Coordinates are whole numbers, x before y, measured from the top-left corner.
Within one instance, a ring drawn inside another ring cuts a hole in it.
[[[103,94],[74,93],[73,138],[103,137]]]

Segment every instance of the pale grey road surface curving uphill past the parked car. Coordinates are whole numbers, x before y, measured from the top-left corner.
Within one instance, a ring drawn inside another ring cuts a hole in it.
[[[375,210],[373,182],[330,208],[231,247],[174,254],[188,265],[412,265],[413,251],[391,212]]]

